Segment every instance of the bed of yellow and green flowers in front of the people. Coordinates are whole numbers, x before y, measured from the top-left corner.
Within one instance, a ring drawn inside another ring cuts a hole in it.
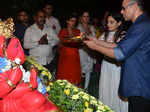
[[[49,99],[63,112],[113,112],[107,105],[66,80],[50,82]]]

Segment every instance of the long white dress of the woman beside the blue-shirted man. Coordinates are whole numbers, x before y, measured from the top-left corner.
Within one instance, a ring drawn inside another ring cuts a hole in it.
[[[108,42],[113,42],[114,33],[109,33]],[[104,34],[99,39],[104,40]],[[120,66],[117,66],[114,60],[104,58],[99,81],[99,99],[114,112],[128,112],[128,103],[122,101],[118,96],[120,70]]]

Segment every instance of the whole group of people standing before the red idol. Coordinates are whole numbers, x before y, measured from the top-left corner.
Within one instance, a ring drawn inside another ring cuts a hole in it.
[[[96,89],[90,83],[96,71],[99,95],[92,95],[115,112],[149,112],[150,20],[143,1],[123,0],[121,11],[106,12],[102,21],[90,18],[88,10],[72,12],[63,27],[52,12],[53,5],[45,4],[33,15],[33,24],[25,10],[18,13],[14,35],[25,54],[48,68],[56,80],[68,80],[87,92],[90,86]],[[85,40],[72,40],[81,34]]]

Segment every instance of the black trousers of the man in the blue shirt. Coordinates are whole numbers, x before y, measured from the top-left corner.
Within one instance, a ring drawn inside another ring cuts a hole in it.
[[[131,96],[128,98],[129,112],[150,112],[150,99],[140,96]]]

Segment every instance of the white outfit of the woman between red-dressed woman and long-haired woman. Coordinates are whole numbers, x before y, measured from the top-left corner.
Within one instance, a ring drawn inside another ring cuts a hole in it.
[[[80,32],[86,32],[83,28],[82,24],[79,24],[77,27]],[[96,30],[94,26],[90,26],[91,36],[96,37]],[[90,53],[88,53],[87,48],[80,48],[79,54],[80,54],[80,63],[81,63],[81,70],[82,73],[85,73],[85,86],[86,89],[88,87],[89,81],[90,81],[90,74],[93,70],[93,65],[95,63],[95,59],[90,56]]]

